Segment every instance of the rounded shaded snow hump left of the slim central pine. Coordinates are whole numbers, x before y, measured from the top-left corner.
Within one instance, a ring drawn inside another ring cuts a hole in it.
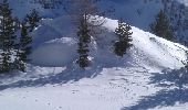
[[[76,41],[72,37],[49,41],[33,50],[31,57],[34,65],[66,66],[76,57]]]

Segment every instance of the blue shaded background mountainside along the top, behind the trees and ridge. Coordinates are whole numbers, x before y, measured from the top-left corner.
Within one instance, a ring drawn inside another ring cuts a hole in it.
[[[44,9],[43,4],[32,0],[9,1],[14,15],[19,18],[23,18],[32,9],[38,9],[43,18],[56,18],[66,14],[62,6],[56,9]],[[43,2],[51,2],[51,0],[43,0]],[[184,44],[184,41],[187,40],[187,0],[101,0],[98,6],[102,10],[115,9],[109,18],[116,20],[123,18],[127,23],[145,31],[150,31],[149,24],[154,22],[155,15],[159,10],[165,9],[176,31],[177,41]],[[20,10],[22,10],[21,13]],[[179,22],[181,24],[177,30]]]

